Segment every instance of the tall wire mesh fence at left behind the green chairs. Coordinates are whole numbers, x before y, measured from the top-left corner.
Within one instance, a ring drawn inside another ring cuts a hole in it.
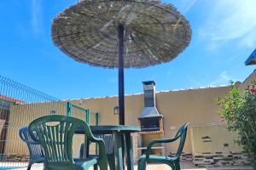
[[[66,115],[66,111],[67,102],[0,76],[0,169],[26,169],[29,153],[19,137],[20,127],[40,116]]]

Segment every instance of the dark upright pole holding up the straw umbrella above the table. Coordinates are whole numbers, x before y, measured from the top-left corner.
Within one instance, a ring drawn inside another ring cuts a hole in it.
[[[119,125],[125,125],[125,88],[124,88],[124,35],[125,26],[119,25]]]

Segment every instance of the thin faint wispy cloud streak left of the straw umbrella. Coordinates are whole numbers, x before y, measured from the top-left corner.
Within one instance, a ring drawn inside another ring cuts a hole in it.
[[[31,14],[32,31],[35,34],[39,34],[43,31],[43,14],[40,0],[32,0]]]

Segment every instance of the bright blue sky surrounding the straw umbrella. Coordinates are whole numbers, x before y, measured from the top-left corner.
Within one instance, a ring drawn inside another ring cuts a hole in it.
[[[117,70],[74,61],[51,40],[52,20],[75,0],[0,1],[0,75],[60,99],[118,94]],[[243,81],[255,66],[244,61],[256,48],[255,0],[165,0],[189,20],[192,41],[172,62],[125,70],[125,94]]]

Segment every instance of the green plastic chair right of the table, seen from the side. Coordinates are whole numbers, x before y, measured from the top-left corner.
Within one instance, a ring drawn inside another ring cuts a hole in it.
[[[180,170],[180,155],[183,151],[183,146],[185,144],[186,136],[187,136],[187,129],[189,126],[189,122],[184,124],[177,130],[177,133],[173,136],[172,139],[154,139],[148,143],[146,154],[140,157],[138,160],[138,170],[145,170],[147,163],[164,163],[170,167],[172,170]],[[171,143],[180,139],[179,146],[177,148],[177,153],[175,156],[155,156],[150,155],[151,147],[154,144],[161,144],[161,143]]]

